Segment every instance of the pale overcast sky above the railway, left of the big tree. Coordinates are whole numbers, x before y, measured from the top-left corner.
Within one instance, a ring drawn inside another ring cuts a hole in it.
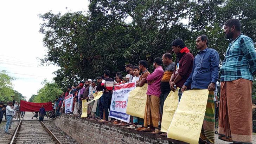
[[[28,100],[43,87],[44,79],[52,80],[57,66],[38,66],[43,58],[44,35],[39,33],[41,19],[37,14],[87,11],[88,0],[13,0],[0,1],[0,71],[15,77],[14,90]],[[68,10],[66,9],[68,7]]]

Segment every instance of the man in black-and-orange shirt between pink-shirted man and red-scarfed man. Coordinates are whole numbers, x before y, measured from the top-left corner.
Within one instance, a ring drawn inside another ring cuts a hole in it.
[[[161,95],[160,95],[160,109],[159,109],[159,118],[158,118],[158,127],[161,129],[162,114],[164,109],[164,102],[168,94],[171,92],[169,86],[169,80],[171,79],[172,73],[175,70],[175,63],[172,62],[172,54],[165,53],[162,56],[162,62],[166,65],[164,76],[161,80]],[[167,136],[167,133],[161,134],[161,136]]]

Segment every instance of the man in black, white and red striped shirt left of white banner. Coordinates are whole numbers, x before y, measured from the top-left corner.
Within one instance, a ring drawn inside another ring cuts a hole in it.
[[[110,109],[110,105],[111,105],[111,99],[112,99],[112,90],[113,90],[113,86],[116,83],[116,81],[114,81],[114,79],[109,77],[109,70],[104,70],[104,79],[102,80],[101,86],[104,89],[103,95],[102,97],[104,98],[104,113],[105,113],[105,117],[106,119],[103,120],[102,122],[108,122],[108,109]]]

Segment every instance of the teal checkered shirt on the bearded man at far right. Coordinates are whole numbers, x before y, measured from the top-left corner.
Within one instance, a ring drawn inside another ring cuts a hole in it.
[[[256,73],[256,51],[251,38],[240,34],[235,40],[230,40],[220,72],[220,81],[240,78],[253,81]]]

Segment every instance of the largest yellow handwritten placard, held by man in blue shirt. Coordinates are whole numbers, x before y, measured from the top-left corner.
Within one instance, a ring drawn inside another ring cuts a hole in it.
[[[168,138],[198,144],[208,95],[208,90],[190,90],[182,94],[167,132]]]

